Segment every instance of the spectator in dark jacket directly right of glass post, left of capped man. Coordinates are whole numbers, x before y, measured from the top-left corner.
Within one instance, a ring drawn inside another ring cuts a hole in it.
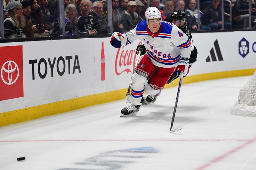
[[[117,10],[119,6],[118,0],[112,0],[112,25],[113,32],[122,32],[124,30],[123,24],[121,24],[122,16]]]

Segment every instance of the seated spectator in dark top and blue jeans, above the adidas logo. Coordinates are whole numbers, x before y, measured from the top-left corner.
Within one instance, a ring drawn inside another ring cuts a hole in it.
[[[205,26],[209,26],[212,30],[220,30],[222,26],[221,18],[221,6],[219,0],[212,0],[212,4],[204,9],[203,23]],[[225,17],[225,16],[224,16]],[[231,29],[231,23],[227,22],[225,18],[224,28]]]

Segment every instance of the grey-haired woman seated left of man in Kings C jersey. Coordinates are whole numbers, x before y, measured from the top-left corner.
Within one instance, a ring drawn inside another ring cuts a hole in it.
[[[77,11],[74,4],[68,4],[65,9],[65,30],[66,35],[73,36],[78,34],[78,29],[76,28],[77,21]]]

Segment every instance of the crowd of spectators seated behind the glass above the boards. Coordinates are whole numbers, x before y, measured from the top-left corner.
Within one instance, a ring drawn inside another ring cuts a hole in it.
[[[201,2],[202,1],[202,2]],[[220,0],[201,0],[197,9],[197,0],[149,0],[150,7],[156,7],[162,19],[170,21],[174,10],[180,9],[187,14],[186,24],[192,31],[222,29],[222,10]],[[226,0],[224,1],[226,2]],[[251,21],[249,21],[248,0],[232,0],[232,14],[227,4],[224,8],[225,29],[253,29],[256,27],[255,2],[251,3]],[[147,0],[112,0],[113,32],[133,29],[145,19]],[[59,0],[3,0],[5,38],[58,36]],[[106,35],[108,13],[106,0],[64,0],[65,30],[67,36]],[[198,13],[200,16],[198,16]],[[232,16],[230,22],[230,17]],[[198,23],[200,29],[198,29]]]

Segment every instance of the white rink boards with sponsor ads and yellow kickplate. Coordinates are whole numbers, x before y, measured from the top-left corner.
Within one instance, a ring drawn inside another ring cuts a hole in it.
[[[183,84],[252,75],[255,33],[194,33],[198,57]],[[125,98],[141,41],[119,49],[109,41],[1,43],[0,126]]]

